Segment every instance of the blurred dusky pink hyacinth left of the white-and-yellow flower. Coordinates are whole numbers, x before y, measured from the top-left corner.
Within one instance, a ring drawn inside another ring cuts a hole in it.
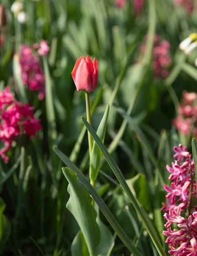
[[[147,42],[147,35],[144,37],[144,40]],[[143,56],[146,52],[146,43],[140,44],[138,50]],[[154,76],[162,78],[168,76],[168,68],[172,63],[172,58],[170,56],[170,43],[167,40],[162,40],[157,34],[154,36],[152,59]]]

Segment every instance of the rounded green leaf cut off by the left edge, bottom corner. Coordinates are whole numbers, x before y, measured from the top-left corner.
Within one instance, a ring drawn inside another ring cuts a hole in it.
[[[5,206],[3,200],[0,198],[0,250],[4,245],[4,242],[8,239],[11,229],[9,221],[3,214]]]

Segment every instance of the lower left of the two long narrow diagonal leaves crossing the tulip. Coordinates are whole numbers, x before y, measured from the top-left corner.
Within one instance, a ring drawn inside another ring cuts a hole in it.
[[[75,173],[77,173],[78,179],[89,189],[90,195],[93,197],[95,202],[99,205],[102,213],[104,214],[105,218],[108,220],[111,227],[114,229],[115,233],[119,238],[122,240],[124,245],[129,249],[131,253],[135,256],[142,256],[142,254],[139,252],[139,250],[136,248],[136,246],[132,243],[131,239],[128,238],[120,224],[117,222],[111,211],[106,206],[105,202],[102,200],[102,198],[98,195],[98,193],[95,191],[93,186],[91,186],[90,182],[86,179],[86,177],[81,173],[81,171],[73,164],[73,162],[70,161],[70,159],[62,153],[58,148],[54,148],[55,153],[60,157],[60,159],[66,164],[69,168],[73,169]],[[64,173],[64,171],[63,171]],[[65,176],[65,173],[64,173]]]

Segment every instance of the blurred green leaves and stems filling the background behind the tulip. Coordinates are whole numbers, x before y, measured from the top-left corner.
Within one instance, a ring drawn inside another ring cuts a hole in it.
[[[28,18],[19,24],[10,11],[13,1],[1,1],[7,25],[6,41],[0,47],[0,89],[9,84],[14,91],[17,74],[13,72],[13,54],[19,44],[33,45],[44,39],[51,48],[46,59],[41,59],[49,93],[38,101],[35,94],[25,91],[43,130],[31,140],[18,139],[8,152],[9,164],[0,159],[1,255],[71,255],[71,243],[79,227],[66,209],[67,181],[53,146],[72,156],[72,161],[87,174],[88,142],[81,121],[85,116],[85,95],[76,91],[71,78],[76,59],[87,54],[97,58],[99,65],[99,83],[90,94],[92,126],[97,130],[109,103],[104,143],[128,184],[132,184],[166,249],[159,210],[165,200],[162,185],[168,183],[165,166],[171,163],[173,146],[185,142],[171,120],[182,91],[197,92],[193,64],[197,51],[186,57],[178,45],[196,32],[197,10],[188,15],[173,0],[145,1],[138,15],[132,0],[122,9],[113,0],[22,2]],[[166,79],[153,76],[151,45],[147,45],[150,55],[136,63],[138,46],[147,33],[152,35],[150,41],[157,33],[170,43],[173,61]],[[187,146],[190,148],[191,141]],[[142,255],[153,255],[153,245],[141,220],[103,158],[101,162],[97,191]],[[108,226],[102,213],[100,219]],[[116,237],[111,255],[122,254],[130,255]]]

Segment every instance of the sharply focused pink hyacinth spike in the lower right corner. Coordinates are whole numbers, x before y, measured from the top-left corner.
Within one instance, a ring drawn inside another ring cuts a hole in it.
[[[191,159],[187,147],[179,144],[174,147],[175,162],[166,166],[169,171],[170,186],[164,184],[167,191],[164,225],[167,230],[166,243],[169,254],[175,256],[197,256],[197,207],[194,202],[196,196],[196,181],[194,161]]]

